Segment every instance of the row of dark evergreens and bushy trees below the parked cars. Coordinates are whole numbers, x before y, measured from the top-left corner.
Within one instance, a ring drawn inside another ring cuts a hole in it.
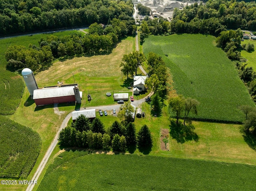
[[[132,122],[123,125],[118,121],[105,131],[104,124],[99,118],[92,122],[84,115],[78,116],[71,126],[61,130],[58,140],[61,146],[79,147],[113,152],[134,153],[136,148],[142,153],[149,153],[152,149],[152,135],[148,126],[143,125],[136,133]]]

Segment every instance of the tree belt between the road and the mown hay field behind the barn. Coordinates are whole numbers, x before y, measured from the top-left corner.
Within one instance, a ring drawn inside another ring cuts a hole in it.
[[[78,32],[63,37],[50,35],[40,39],[39,45],[29,45],[28,48],[10,45],[5,52],[6,68],[16,71],[28,67],[36,72],[47,69],[59,57],[109,53],[120,39],[136,33],[134,19],[130,16],[124,19],[114,18],[104,29],[100,24],[91,24],[86,35]]]

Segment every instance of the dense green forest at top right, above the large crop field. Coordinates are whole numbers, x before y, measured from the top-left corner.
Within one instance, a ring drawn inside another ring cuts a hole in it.
[[[205,33],[218,35],[225,26],[228,29],[256,30],[256,3],[236,0],[209,0],[205,5],[195,2],[183,10],[175,9],[171,22],[173,32]],[[216,32],[209,30],[218,26]],[[212,27],[213,28],[213,27]]]

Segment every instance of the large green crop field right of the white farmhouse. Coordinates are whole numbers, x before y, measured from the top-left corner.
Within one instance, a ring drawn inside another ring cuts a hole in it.
[[[149,36],[143,51],[161,55],[170,68],[176,92],[200,102],[193,118],[242,122],[245,117],[238,106],[255,104],[233,63],[214,42],[214,37],[201,34]]]

